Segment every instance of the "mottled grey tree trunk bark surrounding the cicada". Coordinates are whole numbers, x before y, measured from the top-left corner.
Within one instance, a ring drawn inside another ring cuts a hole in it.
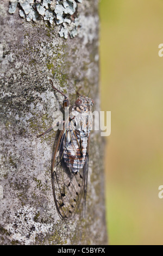
[[[55,132],[36,138],[53,123],[63,97],[76,99],[74,89],[95,100],[99,111],[98,1],[83,0],[78,16],[85,29],[75,38],[60,38],[60,25],[38,19],[27,22],[8,13],[1,1],[1,244],[105,245],[107,243],[103,144],[91,132],[86,218],[80,209],[62,221],[55,209],[51,158]],[[79,28],[80,29],[80,28]],[[82,207],[82,205],[80,205]]]

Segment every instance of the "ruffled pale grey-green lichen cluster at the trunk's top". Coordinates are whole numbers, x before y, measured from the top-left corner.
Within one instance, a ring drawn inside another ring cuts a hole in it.
[[[16,7],[20,9],[19,14],[22,18],[29,21],[36,21],[39,16],[43,20],[53,24],[62,25],[59,35],[68,38],[76,36],[78,26],[76,18],[72,17],[77,11],[77,2],[82,3],[82,0],[10,0],[9,14],[14,14]],[[65,24],[69,25],[67,27]]]

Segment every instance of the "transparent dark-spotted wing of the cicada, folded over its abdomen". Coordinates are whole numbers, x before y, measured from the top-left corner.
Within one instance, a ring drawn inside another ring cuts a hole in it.
[[[68,125],[71,126],[71,123]],[[68,147],[71,150],[68,150]],[[72,129],[66,130],[64,126],[64,130],[59,134],[52,158],[54,201],[60,217],[64,219],[74,217],[79,208],[83,192],[84,200],[86,200],[89,156],[86,153],[82,167],[82,157],[78,161],[77,156],[80,150],[80,139],[75,131]],[[82,154],[80,155],[82,156]],[[71,168],[72,162],[75,168]]]

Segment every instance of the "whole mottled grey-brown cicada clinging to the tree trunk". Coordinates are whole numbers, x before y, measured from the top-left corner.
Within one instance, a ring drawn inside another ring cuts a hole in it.
[[[53,89],[64,96],[63,108],[69,109],[55,143],[51,166],[55,206],[59,216],[67,220],[74,217],[82,198],[85,211],[93,100],[77,92],[76,102],[69,107],[68,97],[50,81]],[[53,126],[37,137],[52,129]]]

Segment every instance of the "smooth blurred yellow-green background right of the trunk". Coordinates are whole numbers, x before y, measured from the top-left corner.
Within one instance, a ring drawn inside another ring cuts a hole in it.
[[[162,0],[101,0],[102,110],[110,245],[163,245]]]

